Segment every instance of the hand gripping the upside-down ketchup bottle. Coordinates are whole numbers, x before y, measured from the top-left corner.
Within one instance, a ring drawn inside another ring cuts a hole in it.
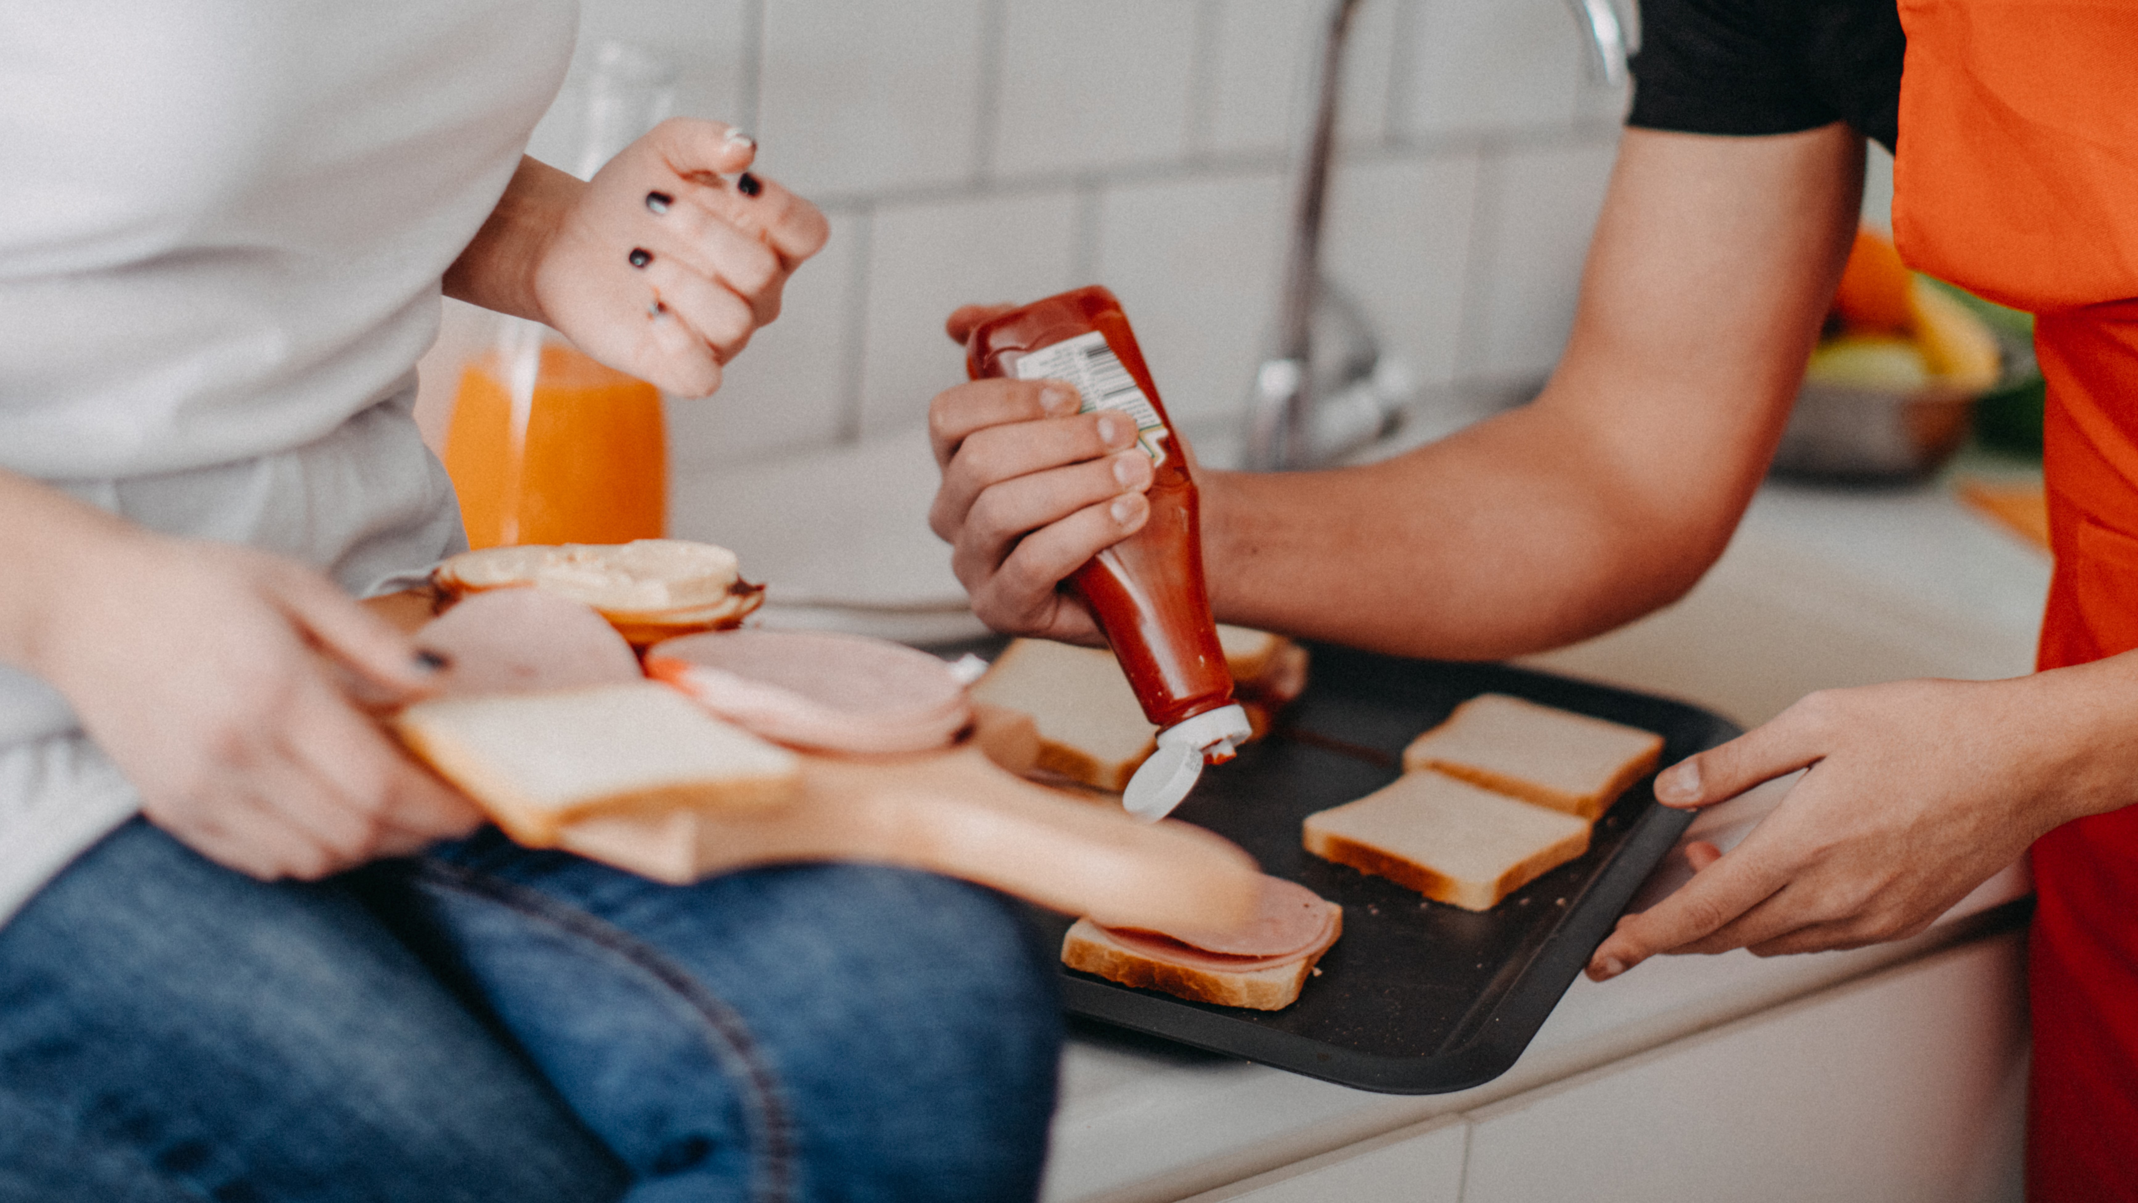
[[[956,342],[1003,308],[949,316]],[[1150,457],[1118,412],[1078,412],[1063,380],[973,380],[928,406],[943,483],[928,526],[951,545],[973,613],[994,630],[1103,643],[1060,583],[1150,517]],[[1193,470],[1195,457],[1182,444]]]

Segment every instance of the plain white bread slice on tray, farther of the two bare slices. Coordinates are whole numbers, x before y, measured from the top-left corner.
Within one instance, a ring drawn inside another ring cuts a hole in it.
[[[1407,771],[1439,769],[1484,788],[1595,821],[1655,771],[1663,737],[1507,694],[1477,694],[1403,750]]]

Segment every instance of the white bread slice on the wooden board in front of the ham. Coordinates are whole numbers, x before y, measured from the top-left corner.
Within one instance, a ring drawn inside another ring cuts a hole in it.
[[[656,682],[419,701],[393,731],[534,848],[590,814],[765,808],[802,788],[793,752]]]

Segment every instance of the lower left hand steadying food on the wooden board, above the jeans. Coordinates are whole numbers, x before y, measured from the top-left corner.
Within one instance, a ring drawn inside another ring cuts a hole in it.
[[[13,628],[0,650],[66,697],[152,823],[259,878],[319,878],[481,825],[359,709],[353,694],[421,697],[432,669],[331,581],[261,551],[32,504],[75,530],[43,564],[53,605],[0,622]],[[34,639],[13,639],[21,628]]]

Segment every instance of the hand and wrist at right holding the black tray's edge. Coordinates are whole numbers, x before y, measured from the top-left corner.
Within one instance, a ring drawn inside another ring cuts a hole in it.
[[[1856,949],[1914,936],[2052,827],[2138,799],[2138,665],[2010,682],[1817,692],[1666,769],[1668,806],[1713,806],[1809,769],[1736,848],[1691,844],[1693,880],[1618,921],[1604,981],[1657,953]]]

